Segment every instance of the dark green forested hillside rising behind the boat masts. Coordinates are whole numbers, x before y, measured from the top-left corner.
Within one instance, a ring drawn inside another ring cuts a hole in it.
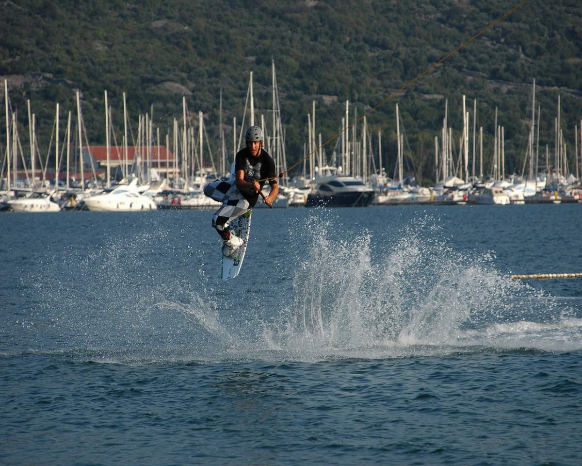
[[[1,1],[0,76],[2,84],[8,79],[24,140],[30,99],[41,147],[48,147],[57,102],[61,118],[68,110],[75,114],[76,90],[91,142],[104,143],[107,90],[117,131],[123,129],[125,91],[134,130],[138,115],[153,105],[162,134],[173,117],[181,117],[185,95],[193,121],[204,112],[216,148],[220,91],[224,121],[240,122],[250,71],[257,114],[269,121],[274,60],[293,161],[303,154],[313,100],[317,132],[325,140],[339,130],[346,100],[363,114],[512,6],[502,0]],[[398,102],[409,169],[434,176],[434,136],[440,136],[445,98],[458,139],[466,94],[471,118],[477,98],[487,154],[499,107],[508,171],[521,171],[534,78],[540,143],[553,147],[560,96],[562,129],[573,154],[574,124],[582,118],[580,11],[579,0],[529,0],[375,111],[368,125],[374,133],[382,130],[389,160],[395,158]]]

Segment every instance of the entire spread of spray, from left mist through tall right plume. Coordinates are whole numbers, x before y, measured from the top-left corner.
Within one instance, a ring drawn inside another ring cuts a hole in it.
[[[439,219],[381,233],[342,227],[337,212],[314,210],[289,233],[279,265],[291,278],[276,287],[252,273],[218,284],[215,260],[204,262],[210,246],[155,247],[167,242],[164,225],[106,238],[28,277],[45,320],[25,316],[26,331],[44,333],[40,350],[124,363],[582,349],[580,303],[508,280],[492,252],[455,250]]]

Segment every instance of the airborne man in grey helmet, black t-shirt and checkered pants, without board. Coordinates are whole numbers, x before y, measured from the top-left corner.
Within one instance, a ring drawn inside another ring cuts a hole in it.
[[[244,139],[247,147],[236,154],[234,179],[217,180],[204,186],[206,196],[222,202],[222,206],[212,216],[212,227],[216,228],[225,240],[225,245],[232,250],[236,250],[243,241],[228,230],[230,221],[255,206],[266,179],[271,185],[271,192],[264,197],[265,204],[270,207],[279,193],[275,162],[262,148],[262,129],[256,125],[250,126]]]

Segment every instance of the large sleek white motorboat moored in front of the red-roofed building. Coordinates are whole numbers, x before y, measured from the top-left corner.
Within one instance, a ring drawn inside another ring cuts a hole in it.
[[[120,185],[111,192],[104,192],[84,199],[89,210],[98,212],[132,212],[140,210],[155,210],[158,207],[147,196],[137,190],[137,181],[130,185]]]

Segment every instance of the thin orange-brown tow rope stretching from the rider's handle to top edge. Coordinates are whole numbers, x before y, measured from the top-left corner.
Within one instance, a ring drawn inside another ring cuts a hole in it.
[[[481,37],[489,29],[492,29],[492,27],[494,27],[496,24],[502,22],[506,17],[512,15],[514,12],[516,12],[517,10],[519,10],[527,2],[528,2],[528,0],[521,0],[521,2],[517,3],[516,6],[514,6],[513,8],[511,8],[509,10],[507,10],[505,13],[503,13],[503,15],[499,16],[496,20],[494,20],[493,22],[489,23],[487,26],[485,26],[483,29],[481,29],[473,37],[471,37],[470,39],[464,41],[461,45],[459,45],[459,47],[455,48],[455,50],[450,51],[443,58],[441,58],[438,62],[433,63],[431,66],[429,66],[427,69],[425,69],[422,73],[418,74],[416,77],[414,77],[409,82],[407,82],[402,87],[400,87],[400,89],[398,89],[397,91],[393,92],[388,97],[386,97],[384,100],[382,100],[381,103],[379,103],[375,107],[372,107],[370,110],[368,110],[367,112],[365,112],[365,114],[361,115],[361,117],[357,118],[356,121],[352,122],[351,125],[346,126],[346,128],[343,128],[340,132],[338,132],[335,135],[331,136],[328,140],[326,140],[324,143],[322,143],[321,146],[316,147],[313,151],[311,151],[310,153],[308,153],[305,157],[300,158],[300,160],[297,163],[291,165],[291,167],[289,167],[287,170],[281,172],[275,178],[279,178],[279,179],[283,178],[283,176],[286,173],[288,173],[291,170],[293,170],[293,168],[297,167],[297,165],[299,165],[304,160],[307,160],[308,158],[310,158],[311,156],[313,156],[313,154],[316,154],[318,150],[320,150],[323,147],[327,146],[333,140],[335,140],[340,135],[342,135],[342,133],[345,133],[347,130],[349,130],[350,128],[352,128],[352,126],[354,126],[357,123],[359,123],[362,119],[364,119],[365,117],[368,117],[372,112],[378,110],[378,108],[382,107],[382,105],[385,105],[386,103],[388,103],[389,101],[391,101],[394,97],[398,96],[399,94],[402,94],[403,91],[405,91],[406,89],[408,89],[410,86],[412,86],[414,83],[416,83],[418,80],[420,80],[424,76],[428,75],[428,73],[430,73],[432,70],[436,69],[439,65],[441,65],[441,63],[447,61],[450,57],[452,57],[453,55],[457,54],[460,50],[463,50],[463,48],[467,47],[467,45],[469,45],[475,39],[477,39],[478,37]],[[269,178],[264,178],[264,179],[259,179],[257,181],[258,182],[268,181],[268,179]]]

